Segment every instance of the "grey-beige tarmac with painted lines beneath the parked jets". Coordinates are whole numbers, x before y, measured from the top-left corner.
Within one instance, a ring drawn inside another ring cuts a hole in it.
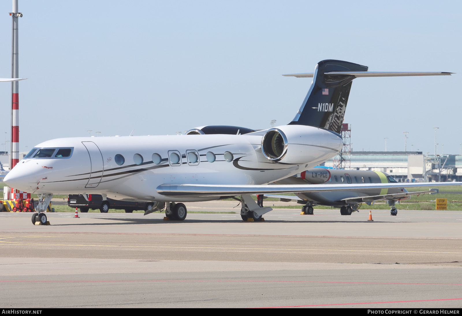
[[[47,216],[0,213],[0,308],[462,306],[462,211]]]

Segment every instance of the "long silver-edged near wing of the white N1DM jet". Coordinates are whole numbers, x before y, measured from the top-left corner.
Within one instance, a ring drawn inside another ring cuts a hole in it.
[[[341,191],[360,189],[419,188],[447,185],[462,185],[462,182],[429,183],[364,183],[351,185],[197,185],[163,184],[157,192],[166,197],[217,197],[243,194],[280,194],[298,192]],[[412,193],[412,192],[409,192]]]

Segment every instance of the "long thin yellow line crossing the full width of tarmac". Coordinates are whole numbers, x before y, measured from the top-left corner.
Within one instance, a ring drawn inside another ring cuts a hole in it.
[[[22,245],[37,245],[37,246],[82,246],[82,247],[128,247],[128,248],[158,248],[158,249],[216,249],[216,250],[292,250],[292,251],[352,251],[352,252],[408,252],[408,253],[454,253],[462,254],[462,252],[450,251],[404,251],[404,250],[353,250],[353,249],[302,249],[302,248],[244,248],[244,247],[185,247],[185,246],[124,246],[124,245],[109,245],[109,244],[35,244],[35,243],[20,243],[12,241],[0,240],[0,244],[22,244]]]

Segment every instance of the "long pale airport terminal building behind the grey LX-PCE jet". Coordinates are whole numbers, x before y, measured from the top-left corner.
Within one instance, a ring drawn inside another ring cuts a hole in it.
[[[352,151],[326,161],[326,167],[382,171],[398,182],[462,181],[462,155],[424,155],[421,151]],[[337,166],[335,166],[335,164]],[[441,178],[440,178],[441,177]]]

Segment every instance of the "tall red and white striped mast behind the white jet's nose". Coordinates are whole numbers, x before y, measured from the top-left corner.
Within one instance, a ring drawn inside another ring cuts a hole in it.
[[[18,0],[13,0],[12,34],[11,34],[11,78],[19,78],[18,60],[18,19],[22,13],[18,12]],[[10,170],[19,162],[19,82],[11,83],[11,158]]]

